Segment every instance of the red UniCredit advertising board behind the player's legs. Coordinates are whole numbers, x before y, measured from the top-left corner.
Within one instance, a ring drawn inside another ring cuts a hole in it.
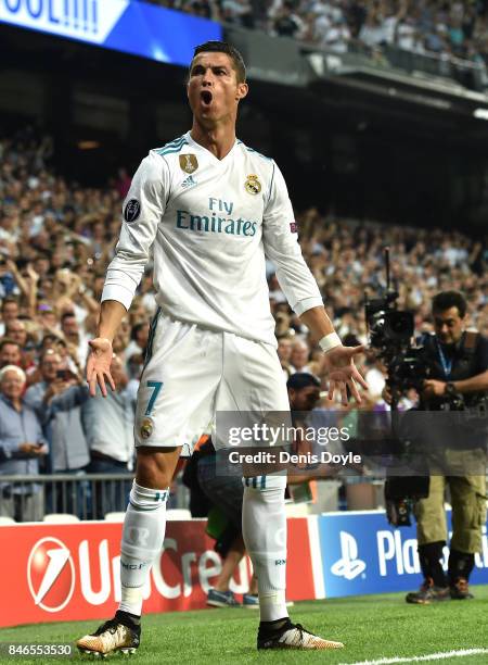
[[[204,520],[169,522],[165,549],[144,589],[144,613],[205,607],[220,573],[220,556]],[[15,525],[0,527],[3,598],[0,626],[106,618],[119,601],[121,525]],[[247,589],[248,566],[233,580]],[[288,520],[288,599],[313,598],[307,519]]]

